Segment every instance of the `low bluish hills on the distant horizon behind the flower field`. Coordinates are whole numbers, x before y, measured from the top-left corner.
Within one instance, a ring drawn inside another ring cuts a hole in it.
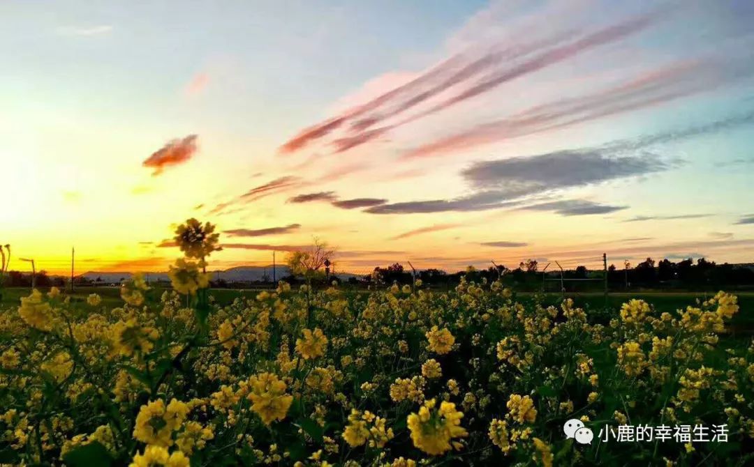
[[[272,266],[238,266],[231,267],[226,270],[211,271],[212,280],[225,280],[226,282],[255,282],[261,281],[265,276],[268,280],[272,280]],[[167,273],[143,273],[149,282],[153,281],[168,281]],[[105,282],[107,284],[119,284],[122,281],[129,279],[132,276],[130,272],[97,272],[88,271],[80,274],[80,277],[89,279],[95,282]],[[275,266],[274,267],[275,279],[280,280],[285,276],[290,276],[290,269],[287,266]],[[351,277],[356,277],[356,274],[351,273],[336,273],[336,277],[341,280],[348,280]]]

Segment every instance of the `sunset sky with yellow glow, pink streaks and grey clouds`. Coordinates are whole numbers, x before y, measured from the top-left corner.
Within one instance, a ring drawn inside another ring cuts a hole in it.
[[[150,3],[152,5],[146,5]],[[754,261],[754,2],[0,2],[11,269]]]

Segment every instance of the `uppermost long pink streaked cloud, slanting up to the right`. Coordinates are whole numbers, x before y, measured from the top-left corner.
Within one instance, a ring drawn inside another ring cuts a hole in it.
[[[513,41],[493,42],[483,46],[477,44],[478,47],[469,47],[462,53],[450,56],[406,84],[302,130],[280,146],[280,153],[299,151],[341,129],[345,131],[345,135],[333,139],[330,144],[334,146],[335,152],[348,151],[397,127],[483,96],[501,84],[561,63],[595,47],[620,41],[666,16],[667,11],[658,10],[586,32],[581,32],[580,28],[566,28],[544,38],[529,39],[532,35],[523,33]],[[466,87],[455,90],[461,85]],[[452,90],[455,90],[452,96],[443,97]],[[377,126],[434,97],[439,97],[439,102],[429,105],[423,111],[394,124]]]

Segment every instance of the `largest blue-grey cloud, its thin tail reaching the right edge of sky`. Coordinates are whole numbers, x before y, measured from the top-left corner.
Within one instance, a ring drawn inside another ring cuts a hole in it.
[[[675,157],[659,157],[658,145],[719,133],[754,123],[754,111],[735,114],[706,124],[669,130],[632,139],[618,139],[593,148],[553,151],[533,156],[506,157],[472,163],[461,177],[475,191],[450,200],[415,200],[385,203],[366,209],[372,214],[480,211],[524,205],[532,196],[553,190],[584,187],[617,179],[645,176],[681,166]],[[569,206],[541,204],[541,210],[561,215],[588,215],[625,209],[627,206],[590,206],[568,200]],[[574,204],[576,203],[576,204]],[[557,209],[547,209],[557,208]],[[523,206],[526,209],[526,206]],[[534,208],[532,208],[534,209]],[[649,220],[639,216],[633,220]]]

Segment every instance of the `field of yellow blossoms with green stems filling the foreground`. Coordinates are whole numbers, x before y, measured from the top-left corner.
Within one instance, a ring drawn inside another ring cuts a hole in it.
[[[280,282],[219,307],[204,272],[213,227],[189,221],[176,237],[173,291],[134,276],[114,309],[53,288],[0,310],[0,464],[754,462],[754,344],[719,337],[734,296],[675,314],[629,301],[604,323],[570,300],[524,305],[498,282]],[[570,419],[591,444],[566,438]],[[641,425],[727,436],[609,435]]]

